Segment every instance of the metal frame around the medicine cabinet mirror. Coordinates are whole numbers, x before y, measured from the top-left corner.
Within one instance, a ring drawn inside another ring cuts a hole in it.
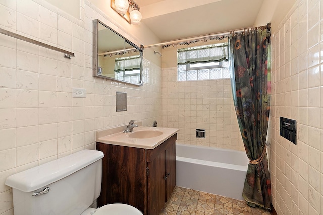
[[[123,38],[125,40],[126,43],[130,44],[131,46],[133,46],[135,49],[137,49],[139,51],[139,57],[140,57],[140,80],[139,83],[132,83],[132,82],[127,82],[127,81],[123,81],[123,80],[119,80],[119,79],[115,79],[112,77],[108,77],[108,76],[102,76],[98,74],[98,25],[101,24],[104,27],[106,27],[107,29],[110,29],[112,32],[114,32],[115,34],[117,34],[118,36],[120,36],[121,38]],[[112,28],[110,28],[109,26],[105,25],[103,22],[101,22],[98,19],[93,20],[93,77],[97,77],[97,78],[102,78],[102,79],[109,79],[109,80],[113,80],[113,81],[117,81],[117,82],[121,82],[121,83],[127,83],[127,84],[131,84],[131,85],[136,85],[136,86],[143,86],[143,79],[142,79],[142,74],[143,74],[143,45],[141,45],[141,47],[136,46],[133,42],[131,42],[130,40],[128,40],[127,38],[125,38],[124,36],[120,35],[119,33],[117,33],[115,30],[113,30]]]

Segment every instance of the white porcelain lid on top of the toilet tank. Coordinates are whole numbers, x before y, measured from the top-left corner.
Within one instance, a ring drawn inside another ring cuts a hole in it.
[[[65,178],[103,157],[101,151],[82,150],[11,175],[5,184],[23,192],[32,192]]]

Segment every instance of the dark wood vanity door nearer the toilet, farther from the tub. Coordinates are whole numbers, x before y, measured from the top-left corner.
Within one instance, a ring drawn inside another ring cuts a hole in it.
[[[163,209],[166,197],[166,154],[159,153],[156,157],[148,162],[149,175],[148,175],[148,206],[149,215],[158,215]]]

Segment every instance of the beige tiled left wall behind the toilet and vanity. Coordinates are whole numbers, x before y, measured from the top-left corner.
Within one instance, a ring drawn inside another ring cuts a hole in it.
[[[112,24],[87,2],[81,11],[84,18],[76,20],[43,0],[0,1],[0,28],[76,53],[69,60],[0,35],[2,215],[13,214],[12,190],[5,186],[9,175],[81,149],[95,149],[98,129],[131,119],[146,126],[161,122],[161,68],[144,60],[143,87],[93,78],[92,19]],[[86,98],[72,98],[72,87],[85,88]],[[126,112],[116,112],[116,91],[127,92]]]

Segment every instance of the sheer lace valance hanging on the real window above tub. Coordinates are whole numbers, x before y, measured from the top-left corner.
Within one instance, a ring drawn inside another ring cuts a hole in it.
[[[227,59],[228,45],[177,50],[177,65],[220,62]]]

